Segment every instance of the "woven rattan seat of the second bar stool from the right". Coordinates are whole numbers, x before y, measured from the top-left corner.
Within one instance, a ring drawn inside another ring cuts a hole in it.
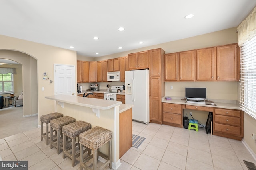
[[[62,127],[62,133],[70,138],[78,137],[80,133],[91,129],[91,124],[85,121],[76,121]]]

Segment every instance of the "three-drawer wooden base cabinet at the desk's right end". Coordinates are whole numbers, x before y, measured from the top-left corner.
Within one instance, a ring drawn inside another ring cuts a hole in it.
[[[231,109],[214,109],[213,135],[242,140],[244,137],[243,112]]]

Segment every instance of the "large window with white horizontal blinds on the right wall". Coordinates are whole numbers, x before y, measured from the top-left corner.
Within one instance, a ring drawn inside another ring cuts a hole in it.
[[[256,119],[256,36],[241,46],[240,107]]]

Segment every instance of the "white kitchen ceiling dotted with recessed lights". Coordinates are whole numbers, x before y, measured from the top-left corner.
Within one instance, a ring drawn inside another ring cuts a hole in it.
[[[256,0],[0,0],[0,35],[100,57],[237,27],[255,6]]]

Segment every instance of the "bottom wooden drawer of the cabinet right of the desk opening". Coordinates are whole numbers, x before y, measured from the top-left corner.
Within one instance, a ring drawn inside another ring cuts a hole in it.
[[[214,131],[218,131],[221,133],[226,133],[230,135],[241,135],[241,127],[230,126],[230,125],[222,125],[219,123],[214,123]]]

